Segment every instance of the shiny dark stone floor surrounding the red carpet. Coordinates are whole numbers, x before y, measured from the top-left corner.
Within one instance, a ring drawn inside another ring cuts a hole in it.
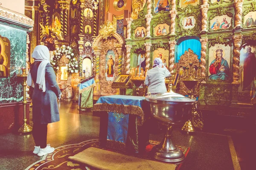
[[[61,101],[59,108],[61,120],[48,125],[47,143],[52,147],[60,148],[99,139],[99,113],[93,113],[92,110],[78,111],[77,103],[74,102]],[[218,127],[218,125],[216,126]],[[152,131],[150,139],[160,141],[164,134],[155,127],[154,125],[150,127]],[[243,166],[244,168],[240,168],[239,165],[237,153],[246,152],[243,150],[243,143],[239,143],[242,141],[241,137],[243,136],[214,134],[207,131],[184,134],[180,129],[174,129],[172,132],[173,142],[178,146],[190,147],[186,161],[180,170],[251,170],[249,165]],[[234,142],[233,139],[235,139]],[[42,159],[51,159],[50,155],[50,157],[48,155],[39,157],[33,154],[34,145],[32,133],[1,134],[0,170],[24,170]],[[240,164],[243,164],[243,161],[240,161]],[[76,168],[70,167],[69,169]]]

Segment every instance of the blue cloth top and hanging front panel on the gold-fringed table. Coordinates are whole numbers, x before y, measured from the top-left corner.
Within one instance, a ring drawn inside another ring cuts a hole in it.
[[[134,105],[142,107],[145,97],[112,95],[101,96],[96,103],[107,103],[116,105]],[[126,143],[128,133],[129,114],[108,112],[108,135],[107,139]]]

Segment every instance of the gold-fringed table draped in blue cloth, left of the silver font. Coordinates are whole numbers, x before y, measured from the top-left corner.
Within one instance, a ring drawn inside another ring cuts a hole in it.
[[[149,133],[144,125],[147,116],[145,97],[113,95],[102,96],[93,105],[100,111],[99,140],[101,147],[126,153],[145,151]]]

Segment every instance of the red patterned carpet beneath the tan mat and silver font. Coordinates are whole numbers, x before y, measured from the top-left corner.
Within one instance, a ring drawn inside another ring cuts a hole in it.
[[[143,156],[138,156],[144,159],[151,159],[148,155],[149,151],[160,142],[149,141],[151,144],[148,144],[146,147],[146,154]],[[78,164],[76,162],[70,161],[69,156],[74,156],[77,153],[81,152],[84,149],[89,147],[99,147],[99,139],[87,140],[79,144],[69,144],[61,147],[55,148],[53,153],[50,153],[43,157],[43,159],[31,164],[25,170],[95,170],[93,168],[87,167],[84,164]],[[180,149],[185,154],[185,157],[189,153],[188,147],[180,147]],[[32,153],[32,151],[31,151]],[[151,159],[152,160],[152,159]],[[176,167],[176,170],[179,170],[182,164],[179,164]]]

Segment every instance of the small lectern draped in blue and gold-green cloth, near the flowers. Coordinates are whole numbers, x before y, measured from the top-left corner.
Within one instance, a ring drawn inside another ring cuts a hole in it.
[[[93,108],[93,87],[95,86],[95,80],[90,79],[87,82],[79,83],[77,87],[79,88],[78,94],[78,109],[88,109]]]

